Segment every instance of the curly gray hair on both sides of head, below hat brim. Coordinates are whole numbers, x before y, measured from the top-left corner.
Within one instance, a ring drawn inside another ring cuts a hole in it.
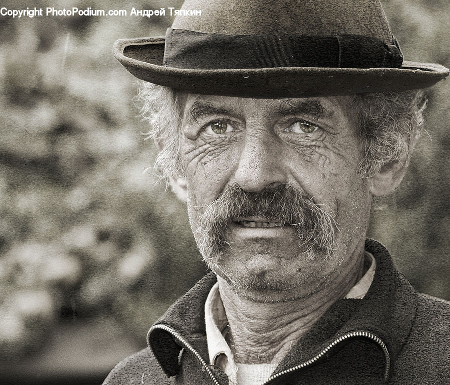
[[[146,139],[160,144],[154,170],[165,179],[184,175],[180,159],[181,120],[186,94],[169,87],[140,82],[137,100],[148,120]],[[408,162],[423,122],[425,98],[420,90],[356,94],[351,108],[358,114],[364,151],[358,174],[367,178],[383,165]]]

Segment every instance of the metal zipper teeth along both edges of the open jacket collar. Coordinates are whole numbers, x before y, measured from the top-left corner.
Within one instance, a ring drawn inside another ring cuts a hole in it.
[[[202,370],[206,371],[206,373],[209,375],[209,377],[211,378],[214,385],[220,385],[217,378],[214,376],[214,373],[211,371],[211,369],[207,365],[206,361],[201,357],[200,353],[198,353],[198,351],[196,351],[189,342],[187,342],[176,330],[174,330],[170,326],[162,325],[162,324],[153,325],[150,328],[150,330],[148,330],[147,342],[148,342],[148,336],[154,329],[163,329],[163,330],[169,332],[173,337],[175,337],[186,349],[188,349],[190,352],[192,352],[192,354],[198,359],[198,361],[201,364]],[[384,370],[384,380],[386,381],[389,376],[389,370],[390,370],[390,355],[389,355],[389,351],[387,350],[386,344],[381,340],[381,338],[379,338],[375,334],[373,334],[369,331],[360,330],[360,331],[352,331],[352,332],[342,335],[339,338],[336,338],[328,346],[326,346],[320,353],[318,353],[315,357],[313,357],[313,358],[309,359],[308,361],[305,361],[299,365],[290,367],[289,369],[282,370],[278,373],[271,375],[262,385],[268,384],[270,381],[272,381],[275,378],[280,377],[281,375],[291,373],[293,371],[302,369],[304,367],[307,367],[307,366],[313,364],[318,359],[320,359],[323,355],[325,355],[332,347],[334,347],[338,343],[340,343],[348,338],[352,338],[352,337],[369,338],[372,341],[376,342],[381,347],[381,349],[383,350],[383,353],[384,353],[384,358],[386,360],[386,367]]]

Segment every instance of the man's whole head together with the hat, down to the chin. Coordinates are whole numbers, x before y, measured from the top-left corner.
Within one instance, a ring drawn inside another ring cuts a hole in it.
[[[373,195],[400,182],[428,87],[379,2],[188,0],[166,38],[118,41],[156,166],[234,291],[306,296],[360,265]],[[189,11],[189,12],[190,12]],[[168,87],[163,87],[168,86]],[[412,90],[412,91],[411,91]]]

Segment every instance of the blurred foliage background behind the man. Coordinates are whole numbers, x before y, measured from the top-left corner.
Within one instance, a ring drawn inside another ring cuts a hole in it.
[[[0,17],[0,382],[98,383],[206,270],[184,205],[151,175],[136,82],[111,55],[116,39],[171,24],[132,7],[181,2],[9,3],[128,12]],[[450,67],[447,0],[383,6],[406,60]],[[419,291],[450,299],[448,80],[428,98],[427,132],[369,235]]]

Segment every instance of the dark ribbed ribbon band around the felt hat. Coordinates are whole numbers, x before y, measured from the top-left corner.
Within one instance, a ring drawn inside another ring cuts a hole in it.
[[[223,35],[169,28],[163,65],[195,70],[400,68],[403,55],[392,40],[393,44],[385,44],[356,35]]]

